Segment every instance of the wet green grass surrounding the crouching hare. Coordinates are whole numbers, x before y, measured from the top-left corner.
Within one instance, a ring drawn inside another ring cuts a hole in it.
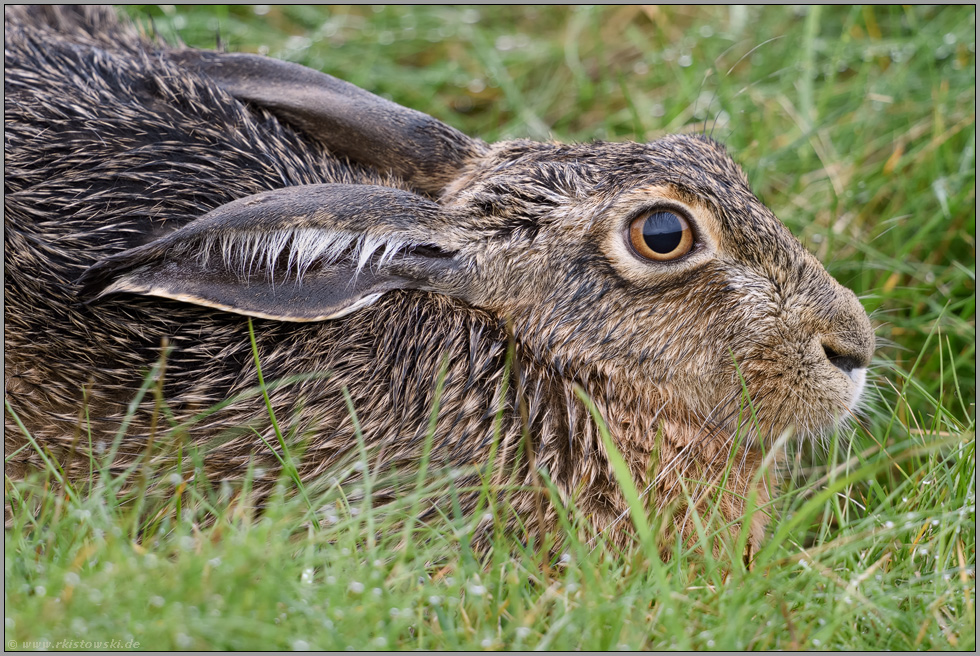
[[[5,481],[8,647],[975,648],[975,8],[127,11],[488,141],[711,131],[871,312],[871,408],[782,486],[751,567],[731,544],[583,543],[574,509],[557,561],[499,531],[475,553],[452,472],[381,508],[284,479],[256,517],[179,475],[138,504],[108,475],[82,494],[53,464]],[[442,520],[414,522],[432,499]]]

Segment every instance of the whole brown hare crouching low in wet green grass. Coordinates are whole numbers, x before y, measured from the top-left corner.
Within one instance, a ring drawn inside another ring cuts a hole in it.
[[[89,472],[80,435],[98,452],[122,427],[121,472],[175,458],[153,441],[176,426],[202,449],[197,476],[260,465],[268,487],[279,444],[249,321],[304,481],[358,435],[384,470],[417,467],[428,439],[433,468],[464,472],[464,511],[481,476],[547,476],[622,545],[609,444],[682,535],[709,498],[737,530],[746,499],[769,498],[778,438],[825,434],[860,403],[860,302],[703,135],[487,144],[295,64],[167,46],[106,9],[7,10],[4,37],[15,480],[42,467],[19,421],[70,477]],[[128,410],[165,351],[164,411],[149,393]],[[533,518],[529,488],[511,502]]]

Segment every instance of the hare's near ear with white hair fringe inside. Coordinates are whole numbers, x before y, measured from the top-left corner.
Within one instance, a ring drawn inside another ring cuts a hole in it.
[[[95,264],[81,295],[160,296],[281,321],[335,319],[392,289],[465,297],[453,251],[433,238],[440,212],[389,187],[264,192]]]

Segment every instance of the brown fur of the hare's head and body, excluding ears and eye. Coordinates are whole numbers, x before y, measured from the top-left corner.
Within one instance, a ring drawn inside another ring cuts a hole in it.
[[[276,479],[275,459],[251,430],[275,443],[254,393],[245,317],[146,295],[84,304],[76,280],[235,199],[295,185],[435,198],[438,216],[423,227],[459,264],[442,292],[395,289],[331,321],[255,320],[266,381],[292,381],[271,398],[291,439],[305,444],[307,481],[357,451],[344,390],[373,461],[416,466],[445,363],[434,466],[486,467],[499,438],[495,480],[513,471],[533,484],[520,455],[523,405],[536,467],[597,532],[627,543],[626,502],[580,388],[651,509],[673,513],[690,536],[685,491],[703,507],[722,488],[722,513],[737,520],[752,488],[756,504],[769,498],[758,475],[765,449],[787,430],[819,435],[857,403],[860,384],[846,371],[866,367],[873,350],[860,303],[707,138],[459,142],[457,175],[444,185],[438,152],[426,177],[411,163],[358,158],[329,134],[306,138],[101,10],[5,13],[5,40],[5,398],[70,476],[88,473],[80,408],[96,445],[109,444],[166,343],[164,399],[183,434],[208,447],[208,478],[238,481],[258,462],[260,482]],[[623,238],[633,214],[664,202],[686,208],[700,240],[666,265],[639,259]],[[757,423],[743,407],[743,380]],[[115,471],[143,454],[153,406],[147,396],[137,409]],[[22,448],[9,412],[5,429],[5,453],[21,449],[7,475],[19,479],[41,460]],[[464,494],[464,510],[475,499]],[[533,516],[530,493],[514,503]],[[554,525],[555,511],[546,512]],[[764,523],[757,515],[753,548]]]

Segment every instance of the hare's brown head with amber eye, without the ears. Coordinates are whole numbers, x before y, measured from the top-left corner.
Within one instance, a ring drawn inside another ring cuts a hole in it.
[[[498,144],[441,203],[475,236],[454,249],[479,278],[468,300],[558,371],[601,371],[686,424],[731,422],[744,390],[769,442],[858,403],[858,299],[707,138]]]

